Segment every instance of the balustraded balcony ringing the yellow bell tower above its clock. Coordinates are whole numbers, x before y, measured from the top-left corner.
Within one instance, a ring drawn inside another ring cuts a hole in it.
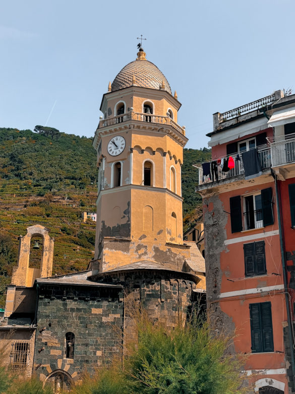
[[[176,131],[181,133],[182,135],[186,135],[185,127],[181,127],[179,124],[173,121],[169,116],[159,116],[152,114],[141,114],[138,112],[128,112],[126,114],[113,116],[111,118],[101,119],[98,124],[98,129],[101,127],[113,126],[119,123],[124,123],[129,120],[136,120],[140,122],[148,122],[148,123],[156,123],[163,125],[170,125]]]

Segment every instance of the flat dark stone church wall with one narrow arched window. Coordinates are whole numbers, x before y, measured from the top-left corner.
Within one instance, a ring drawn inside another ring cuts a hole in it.
[[[122,355],[122,289],[40,285],[34,369],[41,380],[62,369],[74,379],[80,371]],[[39,332],[43,330],[42,332]],[[66,358],[65,335],[75,334],[74,358]]]

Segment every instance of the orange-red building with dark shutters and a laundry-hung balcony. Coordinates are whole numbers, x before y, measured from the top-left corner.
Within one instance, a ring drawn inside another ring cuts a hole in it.
[[[208,308],[255,392],[294,392],[295,95],[213,115],[199,168]]]

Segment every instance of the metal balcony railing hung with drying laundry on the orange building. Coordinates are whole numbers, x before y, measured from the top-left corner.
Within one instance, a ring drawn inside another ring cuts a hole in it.
[[[242,159],[242,154],[239,155],[240,160],[237,160],[237,155],[231,155],[234,161],[234,167],[229,170],[228,172],[223,172],[222,171],[222,165],[217,166],[217,178],[218,180],[222,179],[227,179],[227,178],[232,178],[237,175],[242,175],[244,174],[244,165],[243,165],[243,159]],[[261,168],[269,168],[271,166],[271,153],[270,153],[270,147],[267,147],[265,149],[258,150],[258,156],[260,159],[261,163]],[[218,159],[213,159],[210,160],[210,162],[207,162],[210,164],[210,169],[212,168],[211,163],[216,162]],[[217,179],[214,174],[214,179],[213,179],[213,174],[211,171],[211,177],[205,176],[203,179],[203,167],[202,163],[201,164],[195,164],[194,167],[199,169],[199,185],[202,185],[204,183],[210,183],[210,182],[215,182]]]

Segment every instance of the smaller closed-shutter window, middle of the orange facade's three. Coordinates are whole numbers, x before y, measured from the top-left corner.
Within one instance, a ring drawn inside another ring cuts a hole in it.
[[[245,276],[266,274],[264,241],[244,243]]]

